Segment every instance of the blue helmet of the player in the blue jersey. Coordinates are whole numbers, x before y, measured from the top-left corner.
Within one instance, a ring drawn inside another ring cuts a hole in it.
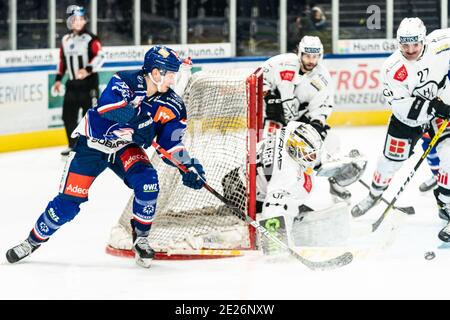
[[[174,50],[166,46],[154,46],[145,54],[142,71],[151,73],[156,68],[161,71],[178,72],[180,65],[181,60]]]

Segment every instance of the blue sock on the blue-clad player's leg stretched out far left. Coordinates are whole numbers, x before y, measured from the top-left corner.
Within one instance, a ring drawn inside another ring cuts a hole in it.
[[[80,212],[79,202],[66,200],[61,195],[56,196],[36,221],[30,232],[31,240],[35,243],[47,241],[62,225],[71,221],[78,212]]]

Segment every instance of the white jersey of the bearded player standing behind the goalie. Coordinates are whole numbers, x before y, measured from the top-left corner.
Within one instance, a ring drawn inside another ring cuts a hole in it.
[[[325,122],[332,111],[333,83],[322,64],[302,74],[298,55],[284,53],[268,59],[262,68],[264,91],[278,90],[287,120],[306,114]]]

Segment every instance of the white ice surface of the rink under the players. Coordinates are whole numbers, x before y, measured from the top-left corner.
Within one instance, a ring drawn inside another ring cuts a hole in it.
[[[370,182],[384,142],[384,127],[338,128],[342,149],[357,147],[370,162],[363,177]],[[0,299],[446,299],[450,246],[437,233],[444,223],[437,217],[432,193],[418,185],[429,177],[424,163],[398,201],[413,205],[415,216],[398,225],[391,244],[393,212],[363,254],[342,269],[312,272],[295,260],[267,261],[251,254],[209,261],[155,261],[142,269],[133,260],[105,254],[111,226],[117,221],[130,191],[110,171],[90,190],[90,201],[31,257],[10,265],[8,248],[22,241],[47,202],[58,192],[64,163],[62,148],[0,154]],[[396,175],[385,194],[390,200],[417,161],[413,156]],[[353,203],[366,195],[360,184],[350,187]],[[356,223],[373,222],[384,204]],[[381,240],[380,240],[381,239]],[[361,245],[355,244],[355,245]],[[434,251],[436,258],[425,260]]]

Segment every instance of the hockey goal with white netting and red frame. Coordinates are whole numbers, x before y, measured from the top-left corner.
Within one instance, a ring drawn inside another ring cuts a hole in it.
[[[231,203],[255,219],[256,143],[262,124],[261,71],[197,72],[189,80],[183,99],[188,111],[184,144],[191,157],[199,159],[211,187],[226,193]],[[183,186],[178,169],[165,164],[156,153],[151,163],[160,184],[149,235],[156,258],[228,257],[240,255],[243,249],[254,249],[255,231],[230,208],[205,189]],[[246,170],[236,170],[244,167]],[[229,190],[230,186],[236,188]],[[132,203],[133,197],[111,231],[106,249],[109,254],[134,256]]]

